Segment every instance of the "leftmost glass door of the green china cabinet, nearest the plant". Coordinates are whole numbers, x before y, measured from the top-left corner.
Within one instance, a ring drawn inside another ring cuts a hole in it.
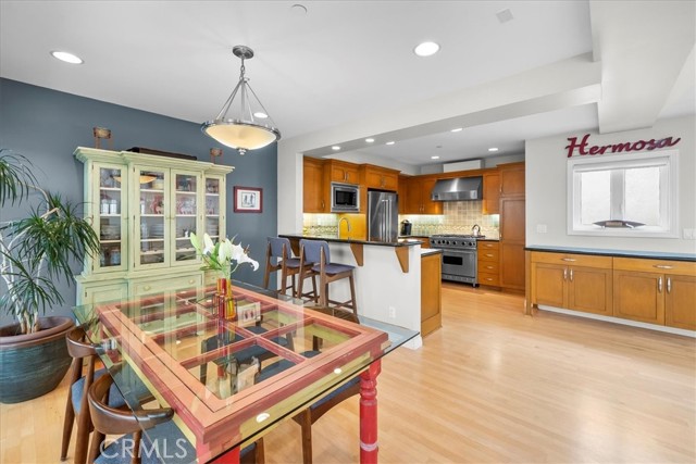
[[[125,239],[127,208],[124,193],[127,191],[124,170],[120,166],[97,165],[99,173],[98,198],[94,199],[95,226],[99,236],[99,259],[95,260],[95,272],[120,271],[126,267]]]

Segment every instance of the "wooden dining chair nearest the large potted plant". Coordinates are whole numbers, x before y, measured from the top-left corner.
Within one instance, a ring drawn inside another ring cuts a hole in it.
[[[85,341],[85,329],[75,327],[65,336],[67,352],[73,358],[71,365],[70,389],[65,404],[63,421],[63,440],[61,443],[61,461],[67,457],[67,449],[73,432],[73,425],[77,422],[75,440],[75,464],[84,464],[87,459],[89,434],[92,429],[89,409],[87,407],[87,391],[92,381],[100,378],[105,369],[95,371],[97,347]],[[87,362],[87,373],[83,375],[83,366]],[[109,404],[113,407],[125,405],[125,400],[117,389],[113,389]]]

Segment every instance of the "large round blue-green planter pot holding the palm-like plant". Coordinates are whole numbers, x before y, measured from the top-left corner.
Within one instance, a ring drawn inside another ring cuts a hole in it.
[[[70,317],[42,317],[44,329],[16,334],[17,325],[0,327],[0,402],[20,403],[53,390],[61,383],[71,358],[65,334],[75,323]]]

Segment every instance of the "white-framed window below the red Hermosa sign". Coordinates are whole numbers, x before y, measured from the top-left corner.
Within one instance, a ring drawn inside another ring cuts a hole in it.
[[[678,153],[571,159],[568,234],[679,237]]]

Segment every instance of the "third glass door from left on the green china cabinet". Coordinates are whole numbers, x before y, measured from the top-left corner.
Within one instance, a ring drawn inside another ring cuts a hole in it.
[[[174,204],[174,255],[172,263],[190,264],[197,261],[196,249],[191,244],[190,234],[199,229],[198,199],[200,176],[196,173],[173,172]]]

